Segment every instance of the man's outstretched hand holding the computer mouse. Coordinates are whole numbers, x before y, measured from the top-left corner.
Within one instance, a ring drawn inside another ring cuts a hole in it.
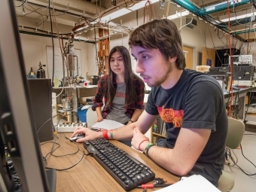
[[[78,128],[75,129],[74,133],[72,133],[71,137],[74,137],[74,136],[78,135],[79,133],[84,133],[85,136],[84,136],[84,138],[77,139],[76,142],[89,141],[89,140],[100,138],[100,136],[102,136],[101,132],[96,132],[96,131],[90,130],[88,128],[84,128],[83,126],[78,126]]]

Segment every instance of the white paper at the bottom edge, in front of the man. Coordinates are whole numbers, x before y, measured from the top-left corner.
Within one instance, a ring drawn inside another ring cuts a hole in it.
[[[169,187],[164,187],[160,190],[154,190],[157,192],[221,192],[211,184],[206,178],[202,175],[191,175],[184,180],[178,181],[175,184],[170,185]]]

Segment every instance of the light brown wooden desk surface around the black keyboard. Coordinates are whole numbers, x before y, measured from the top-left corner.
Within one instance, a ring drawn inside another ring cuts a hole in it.
[[[60,147],[53,152],[54,155],[64,155],[72,154],[75,151],[80,151],[77,154],[66,156],[66,157],[53,157],[52,155],[47,156],[47,167],[53,169],[66,169],[71,166],[74,166],[75,163],[78,163],[81,160],[83,151],[87,154],[87,150],[83,147],[82,144],[69,142],[68,139],[65,139],[65,136],[70,137],[71,133],[59,133],[60,139],[56,142],[59,143]],[[154,163],[150,158],[146,157],[145,154],[136,151],[133,148],[129,148],[126,145],[123,145],[117,141],[111,141],[117,148],[126,151],[131,156],[135,157],[137,160],[145,163],[156,175],[156,178],[163,178],[166,183],[174,183],[179,181],[179,177],[172,175],[167,172],[165,169],[162,169],[156,163]],[[42,154],[45,155],[50,152],[53,143],[49,142],[44,145],[41,145]],[[56,145],[54,145],[56,147]],[[153,183],[151,181],[150,183]],[[147,189],[147,191],[157,190]],[[115,179],[94,159],[94,157],[84,156],[78,165],[68,169],[66,171],[56,171],[56,192],[60,191],[125,191],[120,184],[115,181]],[[131,191],[141,191],[142,189],[135,188]]]

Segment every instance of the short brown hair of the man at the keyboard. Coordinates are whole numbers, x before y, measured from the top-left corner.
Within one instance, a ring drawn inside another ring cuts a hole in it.
[[[130,36],[129,45],[159,49],[166,61],[177,56],[177,68],[186,67],[181,35],[171,20],[153,20],[139,26]]]

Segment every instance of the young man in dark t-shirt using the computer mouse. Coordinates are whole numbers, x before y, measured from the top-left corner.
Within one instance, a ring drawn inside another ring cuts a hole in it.
[[[155,163],[176,175],[200,174],[218,186],[224,166],[227,114],[218,81],[209,75],[184,69],[181,37],[175,23],[154,20],[139,26],[130,36],[136,72],[150,87],[145,111],[135,123],[111,133],[78,127],[84,139],[132,139]],[[160,115],[166,122],[166,146],[150,144],[144,136]]]

